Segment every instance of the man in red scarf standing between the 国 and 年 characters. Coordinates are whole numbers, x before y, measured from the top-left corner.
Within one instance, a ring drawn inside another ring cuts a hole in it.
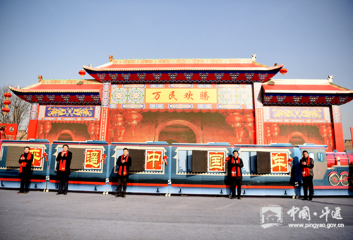
[[[232,159],[228,160],[228,180],[232,188],[232,199],[235,198],[235,186],[238,188],[238,199],[241,194],[241,179],[243,179],[243,174],[241,168],[244,167],[243,160],[239,157],[239,152],[237,150],[233,151]]]

